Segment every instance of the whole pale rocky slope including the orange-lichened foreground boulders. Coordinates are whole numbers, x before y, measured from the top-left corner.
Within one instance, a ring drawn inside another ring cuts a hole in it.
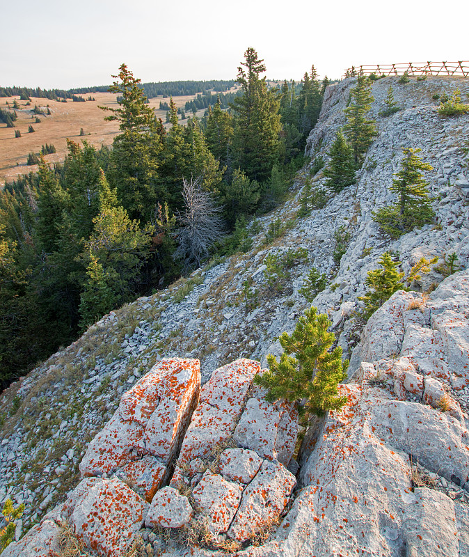
[[[381,118],[390,84],[402,110]],[[354,79],[346,79],[327,89],[319,123],[308,140],[313,159],[327,159],[354,85]],[[303,169],[285,205],[258,219],[260,232],[253,235],[252,251],[198,269],[192,281],[111,312],[10,387],[1,399],[7,418],[0,444],[0,499],[25,503],[17,539],[22,531],[26,534],[5,555],[57,551],[59,523],[68,521],[73,530],[75,509],[77,517],[86,516],[80,483],[89,492],[96,485],[96,496],[112,489],[132,499],[135,522],[122,521],[127,524],[122,539],[128,547],[129,540],[142,535],[155,555],[163,550],[168,556],[191,554],[149,526],[168,533],[157,503],[162,506],[164,496],[171,499],[171,494],[179,509],[171,515],[179,523],[171,524],[186,524],[175,530],[198,524],[216,541],[213,548],[233,549],[230,540],[239,542],[257,528],[253,539],[260,547],[243,541],[244,555],[469,555],[464,271],[469,264],[469,115],[441,118],[431,98],[450,95],[456,86],[463,97],[469,93],[469,83],[462,79],[429,77],[406,85],[394,77],[375,81],[372,113],[379,135],[356,185],[333,196],[322,210],[298,218],[301,186],[311,181],[313,188],[324,185],[321,171],[311,175],[310,168]],[[394,201],[389,186],[402,147],[421,148],[422,159],[434,167],[426,178],[436,221],[389,240],[372,212]],[[277,218],[292,228],[266,245],[265,232]],[[349,233],[349,243],[337,265],[334,235],[340,227]],[[299,248],[307,259],[295,261],[287,283],[269,288],[265,258],[269,253],[282,258]],[[353,313],[363,306],[359,297],[365,294],[367,272],[378,267],[383,251],[398,252],[406,274],[422,256],[438,256],[441,264],[450,253],[458,256],[463,271],[445,281],[438,267],[423,275],[413,284],[415,290],[440,284],[428,298],[398,292],[372,316],[353,351],[361,332]],[[330,281],[312,303],[331,317],[339,345],[351,356],[349,384],[341,387],[349,402],[312,426],[298,471],[290,460],[296,434],[292,408],[267,404],[251,379],[267,354],[280,354],[276,338],[291,332],[310,305],[300,289],[311,265]],[[175,397],[171,389],[165,391],[163,376],[151,370],[156,362],[169,365],[173,356],[184,356],[193,366],[198,359],[204,385],[199,388],[205,389],[213,376],[212,386],[197,393],[198,374],[191,368],[186,379],[177,379],[185,385],[182,391]],[[241,375],[235,380],[236,366],[225,364],[243,356],[251,363],[236,363]],[[226,402],[228,396],[237,409]],[[20,407],[8,417],[15,409],[13,400]],[[280,465],[285,492],[266,476],[270,466]],[[296,476],[291,495],[294,478],[285,468]],[[270,491],[251,490],[262,478]],[[266,495],[264,508],[259,494]],[[271,496],[276,502],[289,499],[280,514],[269,514],[280,504],[273,505]],[[244,505],[251,499],[262,519],[253,519],[249,528],[235,526],[239,516],[251,520]],[[95,503],[87,501],[93,508]],[[120,519],[112,521],[118,524]],[[100,551],[106,551],[106,539],[112,536],[100,538]],[[213,554],[201,548],[197,552]]]

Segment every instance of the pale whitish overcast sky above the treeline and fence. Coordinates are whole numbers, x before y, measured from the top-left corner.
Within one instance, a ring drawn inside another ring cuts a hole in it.
[[[248,47],[268,79],[469,61],[467,0],[3,0],[0,19],[0,86],[105,85],[122,63],[143,82],[236,79]]]

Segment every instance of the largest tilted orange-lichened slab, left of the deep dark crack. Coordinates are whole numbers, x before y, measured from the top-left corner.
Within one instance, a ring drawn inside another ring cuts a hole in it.
[[[111,421],[88,445],[81,474],[109,474],[148,453],[168,464],[180,448],[199,389],[198,360],[159,361],[122,395]]]

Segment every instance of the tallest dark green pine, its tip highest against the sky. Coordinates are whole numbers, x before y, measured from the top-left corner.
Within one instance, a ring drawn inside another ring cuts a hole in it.
[[[276,92],[267,88],[265,77],[259,78],[266,68],[255,49],[248,48],[244,57],[237,75],[242,95],[235,97],[233,103],[237,112],[234,136],[236,159],[251,180],[262,182],[269,178],[273,164],[278,161],[280,101]]]

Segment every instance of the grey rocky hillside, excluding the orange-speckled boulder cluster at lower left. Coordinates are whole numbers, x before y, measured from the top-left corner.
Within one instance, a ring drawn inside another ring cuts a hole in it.
[[[390,84],[402,110],[381,118]],[[345,79],[326,90],[308,139],[312,162],[299,173],[288,201],[257,220],[250,251],[215,260],[189,279],[104,316],[3,393],[0,499],[26,504],[18,537],[79,484],[88,444],[113,416],[121,395],[154,363],[198,359],[204,385],[216,368],[236,359],[265,367],[267,354],[279,355],[276,337],[292,331],[310,305],[299,290],[314,265],[329,284],[313,305],[328,313],[351,359],[349,382],[342,386],[349,402],[312,427],[298,455],[299,471],[285,461],[298,482],[294,502],[285,518],[282,508],[283,522],[271,540],[242,554],[469,554],[469,116],[442,118],[431,98],[450,95],[456,86],[466,97],[469,83],[434,77],[402,85],[392,77],[375,81],[372,111],[379,135],[356,185],[323,209],[298,217],[305,184],[317,189],[324,182],[321,170],[312,173],[314,159],[326,158],[344,125],[353,85],[353,78]],[[426,178],[436,223],[390,241],[372,221],[372,211],[392,201],[388,187],[401,148],[408,147],[421,148],[422,159],[434,168]],[[266,242],[275,223],[284,230]],[[339,265],[335,233],[346,244]],[[366,292],[367,272],[379,266],[384,251],[399,253],[406,274],[422,256],[450,253],[458,256],[461,271],[445,281],[436,269],[423,275],[417,290],[431,290],[433,283],[438,288],[428,297],[397,292],[362,332],[353,312],[363,306],[358,297]],[[270,283],[269,254],[278,256]],[[236,382],[228,386],[237,392]],[[233,430],[243,419],[246,397],[255,398],[246,393]],[[262,456],[264,462],[272,457],[280,460],[273,453]],[[437,505],[438,516],[429,510]],[[180,551],[173,542],[143,534],[150,540],[148,555],[163,547],[166,554]],[[12,545],[6,554],[15,551]]]

